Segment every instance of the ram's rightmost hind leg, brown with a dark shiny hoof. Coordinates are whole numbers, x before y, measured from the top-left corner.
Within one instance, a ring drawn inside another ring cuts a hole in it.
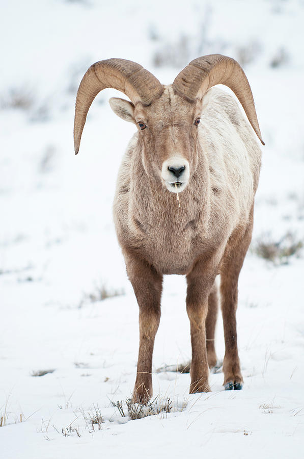
[[[248,224],[245,231],[230,238],[220,270],[220,296],[225,336],[223,371],[226,390],[242,389],[243,378],[237,348],[236,310],[238,277],[251,236],[252,222]]]

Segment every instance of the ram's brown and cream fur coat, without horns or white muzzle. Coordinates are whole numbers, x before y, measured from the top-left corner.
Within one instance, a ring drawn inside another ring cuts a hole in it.
[[[152,353],[160,319],[163,274],[187,278],[192,363],[190,393],[209,391],[216,363],[214,330],[220,296],[226,353],[224,383],[242,381],[237,351],[237,285],[251,240],[261,152],[233,97],[216,88],[190,103],[172,87],[127,115],[147,128],[134,135],[118,178],[114,217],[127,273],[140,309],[140,349],[133,399],[152,395]],[[200,116],[199,126],[194,120]],[[161,179],[163,161],[179,154],[190,177],[176,195]],[[206,341],[207,336],[207,341]]]

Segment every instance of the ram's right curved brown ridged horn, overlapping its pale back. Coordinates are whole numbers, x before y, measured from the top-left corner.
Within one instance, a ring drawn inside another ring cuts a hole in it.
[[[235,93],[250,124],[263,145],[259,122],[250,85],[241,66],[232,58],[210,54],[194,59],[173,82],[175,92],[194,102],[215,85],[226,85]]]

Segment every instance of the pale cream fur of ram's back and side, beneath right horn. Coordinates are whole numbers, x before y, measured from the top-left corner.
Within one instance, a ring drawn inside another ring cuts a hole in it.
[[[232,226],[246,224],[258,186],[261,149],[233,95],[212,88],[205,98],[200,142],[209,162],[211,209],[222,209]]]

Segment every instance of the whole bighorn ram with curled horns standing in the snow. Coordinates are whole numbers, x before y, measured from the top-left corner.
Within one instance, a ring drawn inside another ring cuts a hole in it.
[[[114,201],[117,236],[139,304],[135,401],[145,402],[152,395],[163,274],[184,274],[187,279],[190,393],[210,391],[208,365],[216,363],[215,277],[220,274],[224,385],[227,390],[242,388],[237,286],[252,236],[261,150],[236,100],[212,88],[217,84],[233,90],[264,145],[250,85],[239,64],[226,56],[191,61],[168,86],[139,64],[108,59],[93,64],[78,89],[75,154],[88,110],[104,88],[118,89],[130,98],[131,102],[111,98],[109,104],[137,126],[119,171]]]

